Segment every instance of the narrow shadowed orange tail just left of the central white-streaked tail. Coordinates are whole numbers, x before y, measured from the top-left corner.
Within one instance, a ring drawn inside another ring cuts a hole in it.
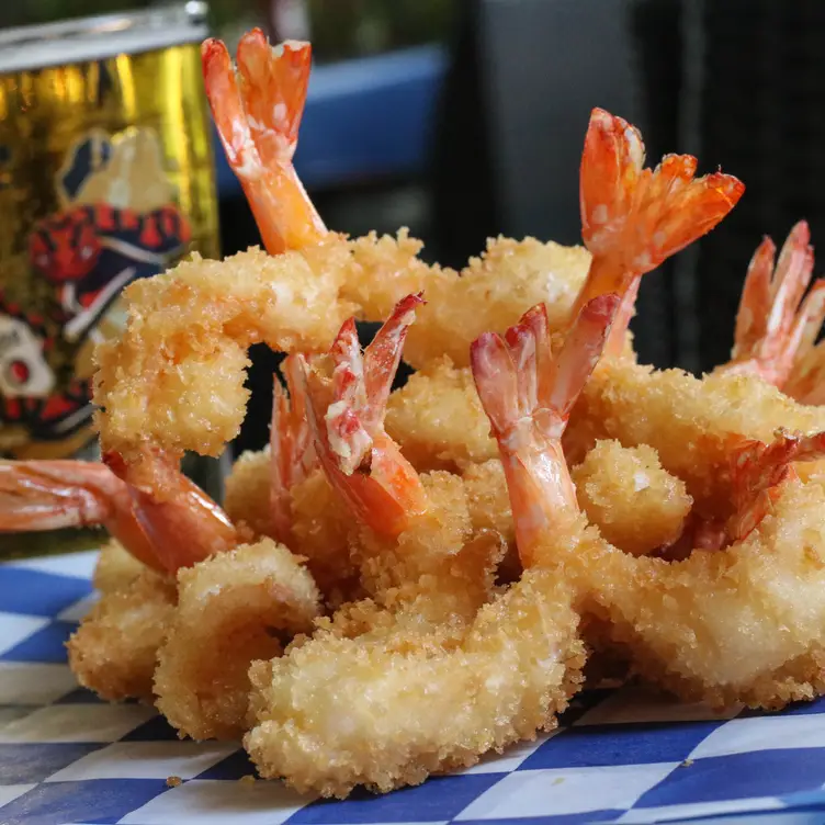
[[[272,425],[270,428],[272,531],[275,539],[289,545],[292,542],[292,504],[290,490],[318,465],[313,434],[297,386],[300,370],[295,355],[289,355],[281,371],[283,385],[274,377],[272,392]]]

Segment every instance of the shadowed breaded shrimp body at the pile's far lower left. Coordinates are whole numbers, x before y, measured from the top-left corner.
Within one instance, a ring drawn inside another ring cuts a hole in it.
[[[177,599],[174,579],[148,568],[104,592],[67,644],[78,681],[109,701],[151,702],[158,647]]]

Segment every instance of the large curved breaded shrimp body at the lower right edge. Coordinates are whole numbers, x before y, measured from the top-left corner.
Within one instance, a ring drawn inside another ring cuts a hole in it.
[[[681,562],[634,557],[591,528],[565,569],[645,678],[688,701],[779,708],[822,688],[823,505],[818,485],[786,484],[744,542]]]

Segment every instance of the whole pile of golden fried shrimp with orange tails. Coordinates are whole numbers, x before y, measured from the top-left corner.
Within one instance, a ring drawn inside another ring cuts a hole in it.
[[[586,685],[714,708],[825,691],[825,285],[804,222],[745,274],[727,363],[637,363],[645,273],[744,187],[644,167],[594,110],[583,247],[490,240],[461,272],[328,230],[292,166],[308,44],[203,45],[206,92],[265,251],[193,255],[126,290],[100,344],[99,464],[0,464],[0,529],[102,524],[79,682],[238,739],[263,778],[347,796],[533,739]],[[366,347],[355,321],[383,326]],[[286,353],[269,445],[223,505],[247,349]],[[393,389],[404,359],[415,372]]]

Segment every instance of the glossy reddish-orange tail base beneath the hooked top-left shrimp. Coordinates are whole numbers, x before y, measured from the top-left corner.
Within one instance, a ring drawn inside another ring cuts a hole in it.
[[[127,464],[118,453],[105,453],[103,462],[126,482],[132,507],[117,527],[129,531],[127,549],[133,553],[133,544],[138,546],[143,536],[140,561],[149,563],[151,556],[152,566],[176,573],[238,543],[226,513],[162,453],[145,450],[137,464]]]

